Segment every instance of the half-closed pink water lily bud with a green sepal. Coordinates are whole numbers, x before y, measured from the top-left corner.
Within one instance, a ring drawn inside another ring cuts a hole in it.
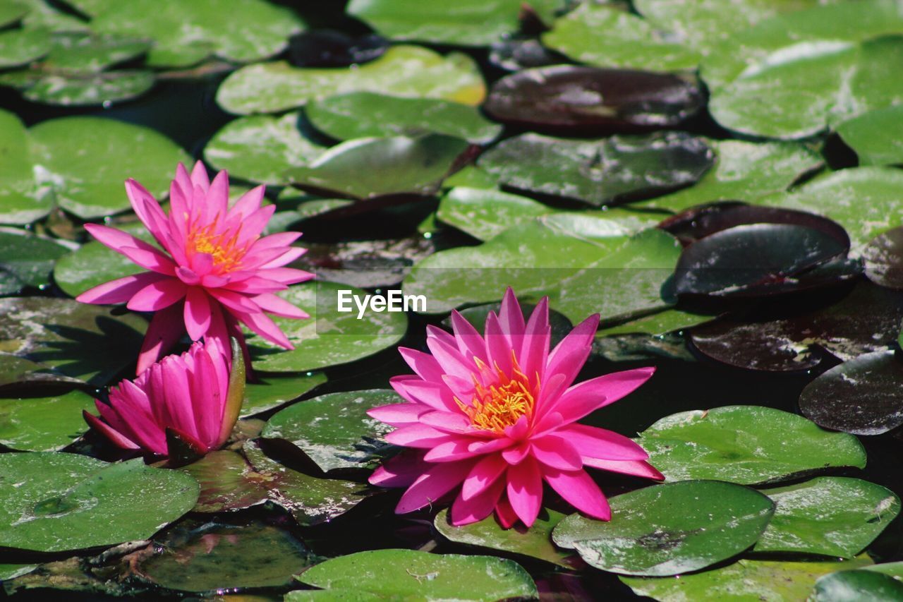
[[[235,352],[230,374],[219,345],[193,343],[111,388],[109,405],[95,400],[101,419],[84,412],[85,420],[123,449],[169,456],[175,436],[205,454],[226,442],[241,409],[245,374],[237,342]]]

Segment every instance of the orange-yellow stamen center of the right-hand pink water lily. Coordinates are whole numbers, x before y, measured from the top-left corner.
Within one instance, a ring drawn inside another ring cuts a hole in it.
[[[482,362],[479,362],[482,363]],[[504,433],[507,427],[513,426],[521,416],[529,419],[533,416],[535,393],[526,375],[520,372],[515,363],[513,376],[498,370],[498,382],[489,387],[479,383],[473,377],[474,394],[470,405],[457,398],[458,407],[470,418],[470,426],[480,430],[492,430]],[[538,385],[536,387],[538,389]]]

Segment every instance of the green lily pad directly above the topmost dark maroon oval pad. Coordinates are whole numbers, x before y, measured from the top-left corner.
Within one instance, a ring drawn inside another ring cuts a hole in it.
[[[575,61],[647,71],[691,70],[702,58],[635,14],[582,4],[554,22],[543,43]]]

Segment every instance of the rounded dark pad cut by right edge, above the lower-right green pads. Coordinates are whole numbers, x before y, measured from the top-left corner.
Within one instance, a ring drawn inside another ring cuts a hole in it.
[[[799,409],[824,428],[880,435],[903,424],[903,362],[891,351],[865,353],[810,382]]]

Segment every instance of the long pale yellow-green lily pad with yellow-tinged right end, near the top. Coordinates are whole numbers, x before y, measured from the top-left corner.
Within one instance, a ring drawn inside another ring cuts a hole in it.
[[[295,68],[285,61],[248,65],[223,81],[219,106],[230,113],[278,113],[312,99],[346,92],[378,92],[477,105],[486,86],[469,56],[446,56],[419,46],[392,46],[355,69]]]

